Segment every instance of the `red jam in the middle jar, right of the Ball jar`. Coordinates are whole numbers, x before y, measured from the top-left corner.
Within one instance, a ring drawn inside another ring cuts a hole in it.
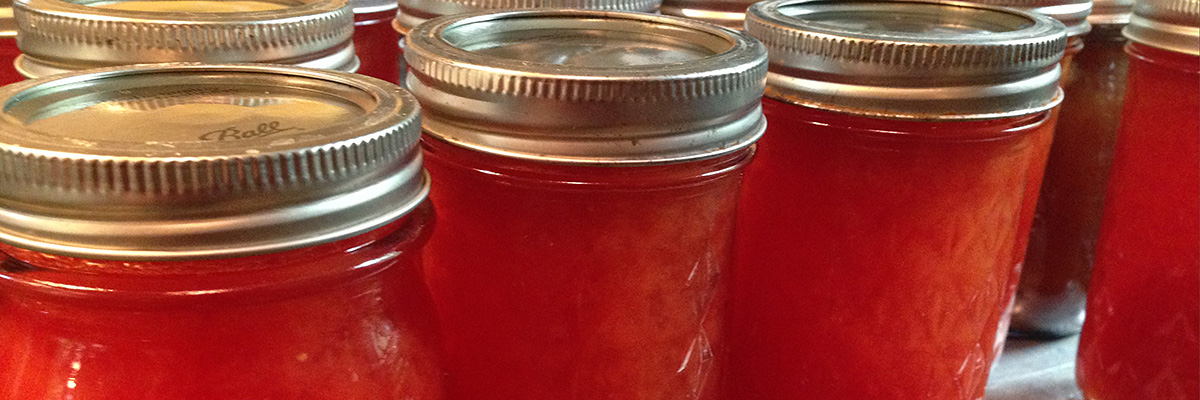
[[[712,398],[749,150],[604,168],[424,143],[451,394]]]

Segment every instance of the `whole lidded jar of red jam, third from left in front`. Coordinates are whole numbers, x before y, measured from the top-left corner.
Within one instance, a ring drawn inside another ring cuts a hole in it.
[[[1067,36],[966,2],[766,1],[727,396],[983,398]]]

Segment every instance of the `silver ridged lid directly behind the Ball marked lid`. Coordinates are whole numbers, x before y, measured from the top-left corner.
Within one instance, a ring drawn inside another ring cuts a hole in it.
[[[24,53],[42,77],[146,62],[269,62],[353,72],[347,0],[16,0]]]

